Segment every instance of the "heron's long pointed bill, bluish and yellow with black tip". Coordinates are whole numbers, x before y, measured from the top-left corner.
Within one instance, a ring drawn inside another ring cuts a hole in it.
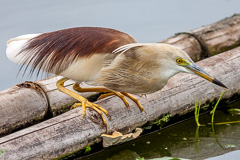
[[[190,64],[187,65],[186,68],[188,70],[190,70],[190,72],[195,73],[196,75],[218,85],[221,86],[225,89],[228,89],[222,82],[220,82],[219,80],[217,80],[216,78],[210,76],[208,73],[206,73],[204,70],[202,70],[200,67],[198,67],[196,64]]]

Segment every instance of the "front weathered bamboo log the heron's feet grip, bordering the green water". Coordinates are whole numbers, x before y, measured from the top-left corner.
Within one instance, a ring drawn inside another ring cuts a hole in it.
[[[223,98],[240,94],[240,47],[197,64],[229,88]],[[111,115],[111,119],[107,118],[108,133],[117,130],[125,134],[163,114],[174,116],[193,111],[196,99],[201,104],[208,102],[205,106],[209,105],[222,91],[223,88],[198,76],[177,74],[161,91],[138,97],[145,112],[141,112],[130,100],[129,111],[116,96],[98,101],[97,104]],[[101,117],[91,109],[87,109],[84,118],[81,113],[79,107],[0,138],[1,149],[6,149],[0,159],[53,159],[100,142],[100,135],[106,133]]]

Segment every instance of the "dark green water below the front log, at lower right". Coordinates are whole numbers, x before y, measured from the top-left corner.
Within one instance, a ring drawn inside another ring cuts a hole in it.
[[[240,120],[239,114],[228,112],[229,108],[240,109],[240,101],[217,110],[214,119],[216,123]],[[201,124],[210,122],[211,115],[200,116]],[[239,155],[240,123],[215,125],[214,128],[212,126],[197,128],[195,120],[190,119],[79,159],[135,160],[141,157],[146,160],[167,156],[186,159],[237,160],[240,159]]]

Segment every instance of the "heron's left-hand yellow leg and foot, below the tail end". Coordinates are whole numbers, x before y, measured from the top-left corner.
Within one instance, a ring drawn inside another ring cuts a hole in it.
[[[78,95],[77,93],[74,93],[74,92],[68,90],[67,88],[65,88],[64,87],[64,82],[67,81],[67,80],[68,80],[68,78],[62,78],[62,79],[57,81],[56,85],[57,85],[58,90],[67,94],[67,95],[69,95],[69,96],[71,96],[71,97],[73,97],[73,98],[75,98],[75,99],[77,99],[79,102],[81,102],[81,103],[76,104],[75,106],[78,106],[79,104],[82,105],[83,116],[85,115],[85,108],[86,107],[92,108],[102,116],[103,123],[105,125],[107,125],[106,124],[106,119],[104,118],[102,112],[104,112],[106,115],[108,115],[108,112],[105,109],[101,108],[99,105],[94,104],[92,102],[89,102],[86,98],[82,97],[81,95]]]

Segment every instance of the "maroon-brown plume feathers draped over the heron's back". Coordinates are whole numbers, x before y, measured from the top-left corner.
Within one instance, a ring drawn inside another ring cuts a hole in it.
[[[129,43],[136,43],[136,40],[114,29],[79,27],[32,38],[18,55],[23,57],[23,64],[32,66],[30,74],[36,69],[37,75],[40,70],[60,74],[77,58],[112,53],[116,48]]]

